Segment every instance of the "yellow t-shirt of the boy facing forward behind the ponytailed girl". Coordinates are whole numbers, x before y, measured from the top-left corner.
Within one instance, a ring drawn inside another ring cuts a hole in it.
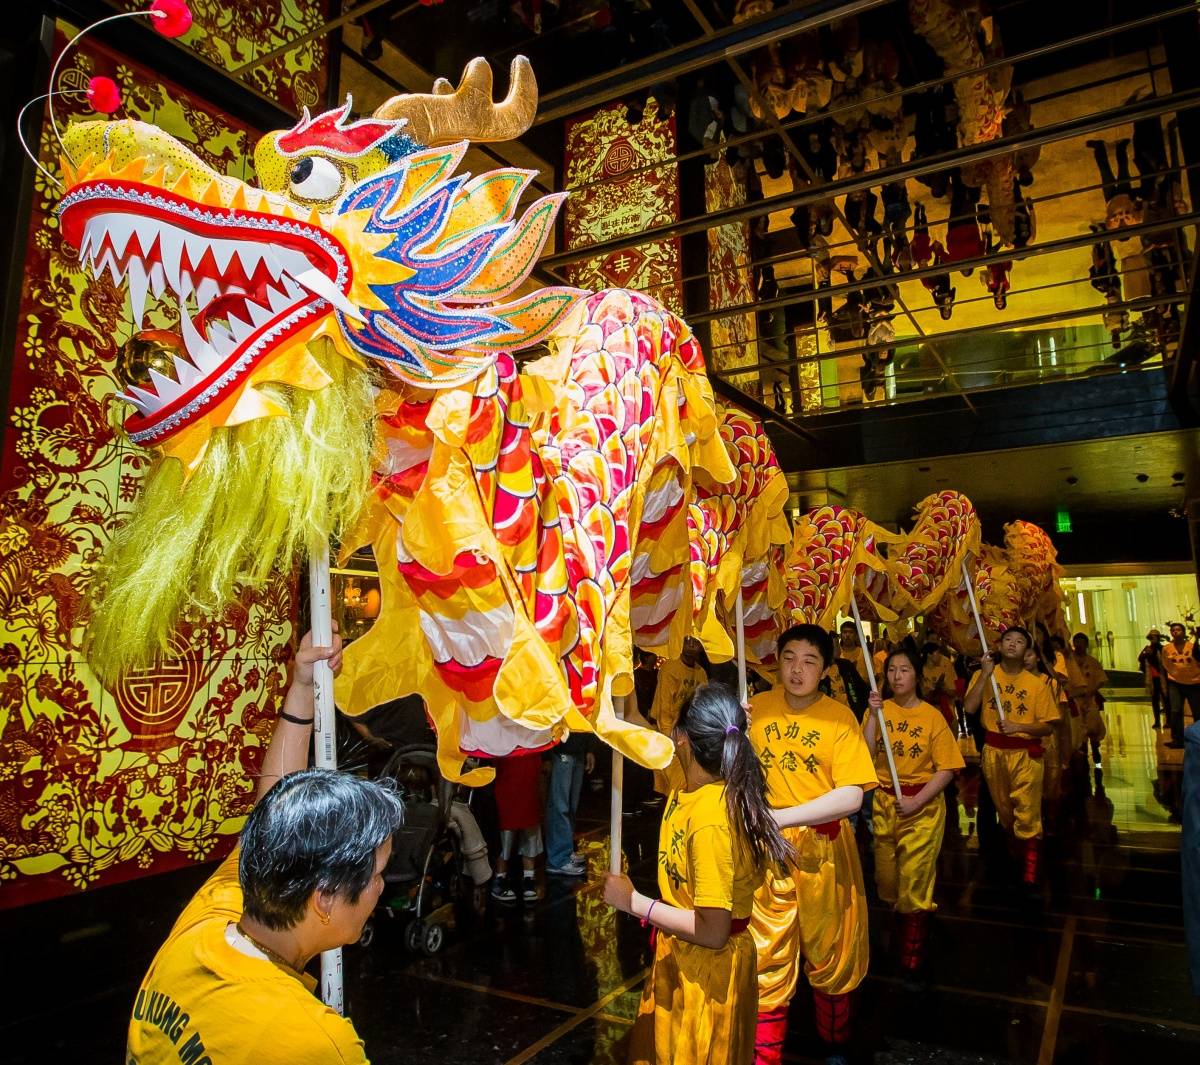
[[[798,806],[834,788],[877,783],[871,752],[857,718],[821,696],[792,710],[782,686],[750,700],[750,742],[767,775],[770,805]]]

